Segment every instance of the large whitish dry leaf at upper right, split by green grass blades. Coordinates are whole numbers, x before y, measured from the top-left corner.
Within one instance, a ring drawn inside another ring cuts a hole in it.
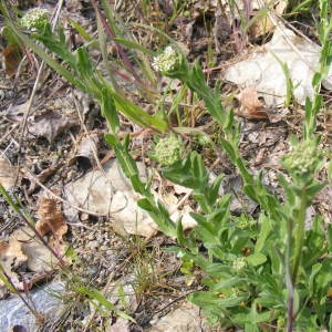
[[[263,96],[267,106],[282,105],[287,95],[287,81],[280,63],[288,65],[298,103],[304,105],[313,96],[312,77],[319,64],[321,48],[281,27],[272,40],[257,48],[248,60],[241,61],[225,72],[225,79],[239,85],[252,85]],[[276,59],[277,56],[277,59]],[[324,80],[325,89],[332,89],[332,68]]]

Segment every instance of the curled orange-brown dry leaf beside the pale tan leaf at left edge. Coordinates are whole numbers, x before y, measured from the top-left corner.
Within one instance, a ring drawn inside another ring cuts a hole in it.
[[[39,203],[37,231],[41,236],[51,232],[55,239],[61,240],[68,231],[68,225],[63,219],[62,211],[58,208],[56,200],[41,197]]]

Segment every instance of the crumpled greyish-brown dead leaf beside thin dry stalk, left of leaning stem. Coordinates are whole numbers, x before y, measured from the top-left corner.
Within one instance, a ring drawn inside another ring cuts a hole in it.
[[[38,137],[45,137],[50,144],[56,136],[77,125],[75,120],[63,115],[60,111],[50,111],[35,116],[34,120],[29,118],[28,121],[29,133]]]

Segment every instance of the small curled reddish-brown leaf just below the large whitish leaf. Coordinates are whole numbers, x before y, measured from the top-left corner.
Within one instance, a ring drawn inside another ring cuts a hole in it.
[[[241,107],[238,112],[239,116],[249,120],[266,120],[268,113],[264,104],[259,100],[258,93],[253,86],[248,86],[238,94]]]

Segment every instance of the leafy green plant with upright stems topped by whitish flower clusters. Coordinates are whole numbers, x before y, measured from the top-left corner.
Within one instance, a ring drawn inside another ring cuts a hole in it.
[[[320,68],[313,79],[315,94],[305,104],[303,138],[291,139],[290,153],[282,162],[284,175],[280,175],[279,183],[284,190],[283,199],[262,185],[261,173],[253,176],[248,169],[238,148],[240,124],[235,121],[232,111],[222,106],[219,91],[206,84],[199,64],[189,65],[175,46],[166,48],[154,59],[155,70],[179,80],[204,101],[208,113],[222,129],[220,146],[242,177],[245,194],[260,206],[255,220],[246,214],[232,216],[230,195],[218,196],[224,175],[208,184],[209,174],[203,157],[189,152],[178,159],[176,147],[176,154],[169,152],[172,163],[164,163],[167,156],[163,156],[160,173],[168,180],[193,189],[199,212],[191,214],[197,227],[189,232],[184,232],[180,220],[176,225],[172,221],[167,209],[156,201],[149,184],[139,179],[129,151],[129,137],[121,139],[117,136],[117,111],[138,125],[159,133],[169,129],[164,114],[151,116],[118,95],[95,71],[86,48],[72,53],[68,51],[61,30],[56,37],[45,25],[42,33],[32,38],[41,41],[70,69],[55,62],[9,22],[19,39],[101,104],[110,129],[105,139],[114,149],[133,188],[142,195],[138,206],[149,214],[164,234],[177,238],[178,246],[169,250],[181,258],[184,267],[191,268],[195,263],[206,274],[203,280],[205,290],[193,293],[189,299],[204,309],[211,323],[224,328],[236,325],[245,331],[268,331],[268,326],[272,326],[289,332],[293,329],[332,329],[329,299],[332,227],[324,226],[320,216],[314,217],[311,227],[305,227],[305,211],[325,185],[317,180],[317,174],[323,166],[323,153],[315,131],[317,115],[322,106],[320,85],[332,59],[329,39],[332,21],[328,1],[320,1],[320,10],[322,52]],[[73,79],[72,73],[80,80]]]

